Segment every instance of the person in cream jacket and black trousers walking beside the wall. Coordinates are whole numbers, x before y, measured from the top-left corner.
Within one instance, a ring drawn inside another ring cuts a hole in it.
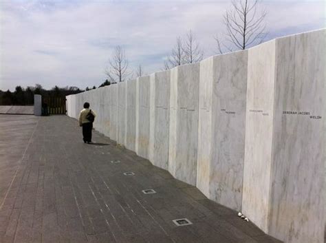
[[[96,114],[89,109],[89,103],[84,103],[84,109],[79,114],[79,125],[83,127],[83,140],[85,143],[91,143],[91,129],[93,129],[93,122]]]

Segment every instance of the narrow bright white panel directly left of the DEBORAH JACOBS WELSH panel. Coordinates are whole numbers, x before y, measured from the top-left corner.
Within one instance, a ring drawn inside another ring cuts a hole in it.
[[[265,233],[270,207],[275,41],[248,50],[242,211]]]

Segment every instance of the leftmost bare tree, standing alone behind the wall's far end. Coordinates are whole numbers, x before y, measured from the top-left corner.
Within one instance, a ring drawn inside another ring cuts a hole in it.
[[[109,60],[109,67],[105,70],[109,81],[111,83],[123,82],[131,74],[128,70],[128,65],[124,50],[118,45],[113,51],[112,58]]]

